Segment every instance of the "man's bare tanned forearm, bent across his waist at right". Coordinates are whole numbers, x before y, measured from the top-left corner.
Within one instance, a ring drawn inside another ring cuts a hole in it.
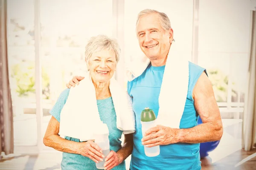
[[[203,143],[221,139],[223,129],[221,125],[210,122],[188,129],[177,129],[177,140],[184,143]]]

